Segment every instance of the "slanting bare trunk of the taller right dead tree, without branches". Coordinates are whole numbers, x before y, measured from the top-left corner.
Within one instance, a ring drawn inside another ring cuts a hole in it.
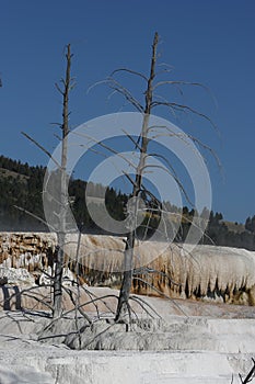
[[[152,90],[152,82],[155,77],[155,63],[157,63],[157,47],[159,43],[159,35],[155,33],[153,44],[152,44],[152,57],[151,57],[151,68],[150,68],[150,77],[147,82],[147,91],[146,91],[146,108],[143,111],[143,121],[142,121],[142,129],[141,129],[141,149],[140,149],[140,158],[139,163],[136,170],[136,180],[132,189],[132,197],[138,197],[140,191],[141,191],[141,184],[142,184],[142,172],[146,165],[146,156],[148,150],[148,129],[149,129],[149,117],[151,113],[151,104],[153,99],[153,90]],[[135,204],[134,207],[134,216],[132,221],[136,221],[137,214],[138,214],[138,205]],[[126,241],[126,249],[125,249],[125,261],[124,261],[124,276],[123,276],[123,284],[120,287],[119,298],[118,298],[118,306],[116,312],[116,321],[119,321],[129,314],[129,294],[131,289],[131,282],[132,282],[132,270],[134,270],[134,247],[135,247],[135,240],[136,240],[136,231],[132,229],[128,236]]]

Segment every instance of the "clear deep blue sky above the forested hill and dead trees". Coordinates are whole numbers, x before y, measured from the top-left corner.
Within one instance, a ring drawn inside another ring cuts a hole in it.
[[[0,9],[0,154],[46,165],[48,159],[21,135],[27,132],[49,150],[56,146],[50,123],[60,122],[60,95],[54,83],[63,75],[63,49],[71,43],[73,127],[116,112],[121,103],[95,81],[117,67],[148,71],[154,31],[162,61],[172,79],[208,86],[187,91],[185,101],[210,114],[220,135],[207,124],[190,125],[210,145],[222,172],[209,160],[213,211],[244,222],[255,214],[255,2],[252,0],[12,0]],[[130,86],[138,91],[135,83]],[[187,128],[187,120],[179,121]],[[196,131],[197,129],[197,131]]]

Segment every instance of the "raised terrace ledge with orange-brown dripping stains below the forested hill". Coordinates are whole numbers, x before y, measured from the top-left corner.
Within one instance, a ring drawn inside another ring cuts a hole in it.
[[[56,247],[56,234],[0,234],[0,264],[33,272],[48,267]],[[77,235],[67,236],[66,252],[73,267]],[[90,284],[107,285],[121,271],[125,242],[113,236],[82,235],[79,262]],[[136,267],[147,266],[165,275],[150,274],[149,282],[171,297],[215,300],[235,304],[255,304],[255,252],[245,249],[197,246],[189,253],[181,246],[146,241],[135,249]],[[140,273],[140,278],[147,278]],[[177,284],[173,284],[175,282]],[[141,281],[134,292],[157,294]]]

